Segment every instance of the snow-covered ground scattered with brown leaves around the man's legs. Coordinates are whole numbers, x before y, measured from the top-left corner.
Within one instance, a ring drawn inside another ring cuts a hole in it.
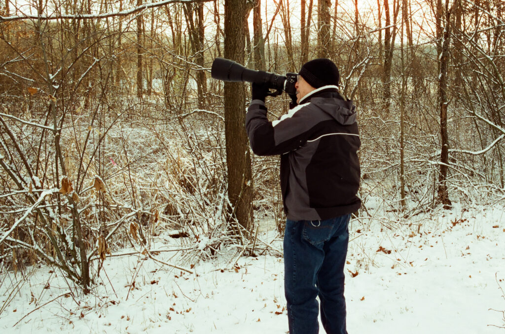
[[[503,209],[456,208],[423,215],[395,230],[376,220],[351,222],[348,332],[504,333],[505,328],[496,327],[505,326],[499,288],[505,289]],[[275,232],[263,230],[262,238],[280,250]],[[175,247],[174,241],[160,237],[155,248]],[[159,256],[176,261],[170,258],[173,253]],[[16,292],[0,314],[0,331],[287,332],[282,257],[273,252],[242,257],[236,265],[229,259],[196,263],[194,273],[187,274],[144,256],[107,258],[103,281],[75,300],[61,274],[48,268],[33,271],[16,289],[14,275],[4,274],[0,308]]]

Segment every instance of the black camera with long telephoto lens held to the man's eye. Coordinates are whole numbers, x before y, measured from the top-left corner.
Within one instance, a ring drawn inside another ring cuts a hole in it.
[[[287,73],[285,76],[265,71],[247,69],[245,66],[230,59],[216,58],[212,63],[211,76],[214,79],[226,82],[250,82],[256,84],[268,84],[269,88],[275,89],[267,95],[277,96],[286,92],[296,94],[296,73]]]

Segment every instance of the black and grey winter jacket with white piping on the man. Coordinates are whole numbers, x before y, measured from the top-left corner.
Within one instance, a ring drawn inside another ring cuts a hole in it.
[[[252,100],[245,127],[257,155],[281,155],[281,190],[290,220],[325,220],[357,211],[361,142],[356,107],[336,86],[306,95],[269,122],[261,100]]]

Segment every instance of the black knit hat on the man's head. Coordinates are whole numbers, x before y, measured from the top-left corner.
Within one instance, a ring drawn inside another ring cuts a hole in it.
[[[340,80],[337,65],[327,58],[318,58],[306,62],[301,66],[298,74],[314,88],[327,85],[338,86]]]

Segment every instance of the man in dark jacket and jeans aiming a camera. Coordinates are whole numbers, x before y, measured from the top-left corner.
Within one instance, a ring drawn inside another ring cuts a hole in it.
[[[356,107],[338,92],[329,59],[305,63],[297,80],[297,105],[273,122],[266,116],[268,86],[253,84],[245,126],[255,154],[281,155],[289,333],[319,332],[317,296],[326,332],[346,333],[347,224],[361,206]]]

